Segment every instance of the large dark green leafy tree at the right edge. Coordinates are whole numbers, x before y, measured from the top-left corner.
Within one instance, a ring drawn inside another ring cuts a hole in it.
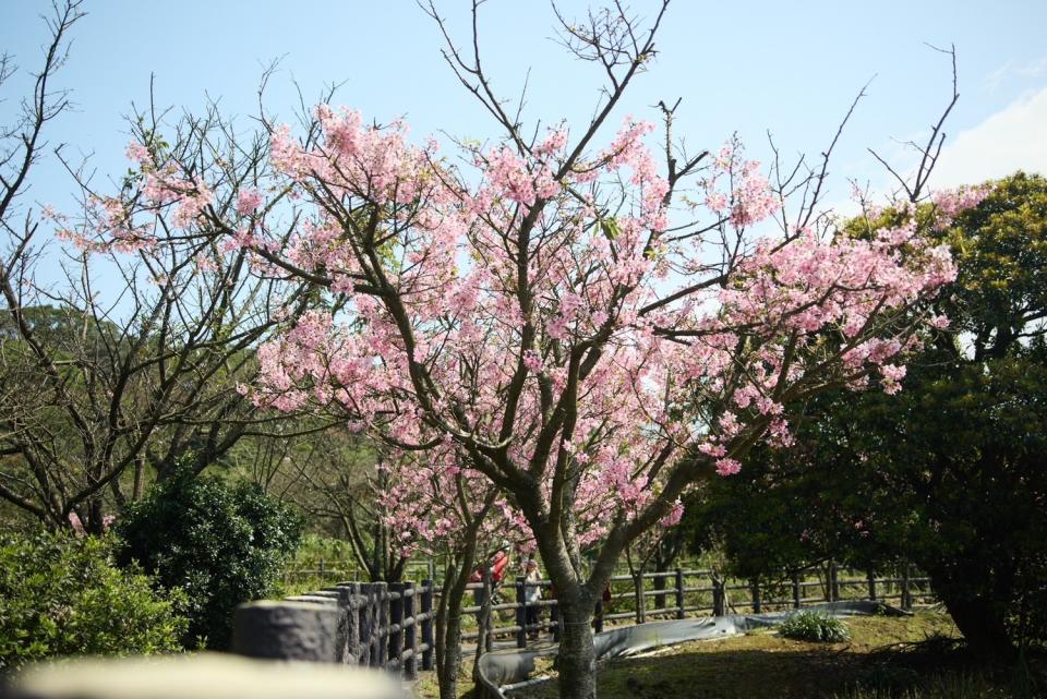
[[[689,516],[747,576],[912,561],[976,651],[1013,658],[1047,641],[1047,180],[996,183],[939,234],[959,277],[927,311],[954,330],[901,394],[791,406],[796,446],[755,450]]]

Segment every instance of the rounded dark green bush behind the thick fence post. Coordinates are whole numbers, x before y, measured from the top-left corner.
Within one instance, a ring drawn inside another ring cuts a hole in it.
[[[257,486],[188,472],[154,486],[117,526],[122,563],[185,592],[183,642],[218,650],[236,606],[269,592],[300,532],[298,515]]]

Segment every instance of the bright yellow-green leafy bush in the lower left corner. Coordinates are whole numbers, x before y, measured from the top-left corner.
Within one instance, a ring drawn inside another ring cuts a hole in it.
[[[179,650],[181,593],[164,599],[111,552],[94,537],[0,533],[0,672],[51,655]]]

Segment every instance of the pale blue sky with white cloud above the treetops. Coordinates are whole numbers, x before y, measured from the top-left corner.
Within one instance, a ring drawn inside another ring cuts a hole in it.
[[[467,3],[438,3],[462,41]],[[588,3],[568,0],[564,13]],[[652,16],[655,2],[636,0]],[[8,0],[0,49],[33,68],[46,38],[38,19],[49,3]],[[183,0],[87,0],[75,27],[61,84],[77,104],[53,124],[52,144],[91,156],[99,176],[122,171],[131,103],[145,104],[149,76],[157,103],[198,109],[205,95],[243,117],[254,110],[263,65],[282,57],[267,106],[287,119],[297,101],[325,84],[344,83],[336,101],[388,121],[404,116],[422,136],[497,136],[493,122],[457,84],[440,55],[441,37],[411,0],[294,3]],[[865,152],[895,152],[894,138],[925,133],[949,97],[948,62],[925,43],[955,44],[961,101],[949,121],[950,145],[939,181],[1003,174],[1015,167],[1047,171],[1047,2],[967,0],[917,2],[697,2],[670,8],[651,70],[627,96],[625,113],[655,118],[659,99],[683,98],[677,133],[691,148],[717,147],[737,131],[749,154],[766,157],[771,130],[783,153],[817,154],[851,99],[870,79],[833,168],[832,196],[846,196],[845,178],[886,183]],[[481,12],[482,49],[494,86],[516,97],[530,69],[525,117],[531,123],[578,123],[600,87],[594,67],[573,61],[550,37],[545,2],[490,0]],[[23,83],[4,89],[10,109]],[[31,198],[62,205],[71,189],[60,170],[41,167]]]

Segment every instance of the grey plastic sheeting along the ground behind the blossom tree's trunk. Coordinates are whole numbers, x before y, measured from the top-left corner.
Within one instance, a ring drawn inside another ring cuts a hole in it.
[[[882,602],[847,600],[766,614],[730,614],[623,626],[597,634],[593,637],[593,646],[597,660],[628,658],[661,646],[735,636],[757,628],[777,626],[793,614],[806,611],[821,611],[832,616],[870,614],[906,616],[910,614]],[[488,696],[492,699],[505,699],[504,692],[531,684],[527,678],[534,672],[535,659],[555,655],[557,650],[558,647],[552,646],[535,650],[503,650],[484,653],[480,656],[479,672]]]

